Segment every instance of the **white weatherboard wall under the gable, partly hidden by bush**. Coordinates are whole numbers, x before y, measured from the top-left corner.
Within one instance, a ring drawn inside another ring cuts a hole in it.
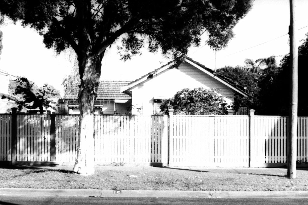
[[[234,91],[208,74],[188,63],[182,63],[178,69],[167,69],[132,88],[132,114],[155,114],[154,96],[171,98],[181,89],[220,89],[220,94],[228,103],[234,100]],[[137,112],[136,108],[142,108]]]

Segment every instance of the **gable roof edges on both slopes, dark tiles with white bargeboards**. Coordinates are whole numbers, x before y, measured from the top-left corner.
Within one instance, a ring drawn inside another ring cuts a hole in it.
[[[208,74],[209,76],[215,78],[217,81],[220,81],[221,83],[225,84],[226,86],[228,86],[229,88],[233,89],[234,91],[236,91],[237,93],[240,93],[241,95],[248,97],[249,94],[245,92],[246,88],[244,88],[243,86],[239,85],[237,82],[233,82],[230,78],[227,78],[221,74],[218,74],[217,72],[213,71],[212,69],[209,69],[207,67],[205,67],[204,65],[202,65],[201,63],[194,61],[192,58],[190,57],[185,57],[184,58],[184,62],[187,62],[191,65],[193,65],[194,67],[196,67],[197,69],[200,69],[201,71],[203,71],[204,73]],[[121,88],[121,92],[124,92],[140,83],[142,83],[143,81],[146,81],[148,78],[152,78],[153,76],[156,76],[158,73],[163,72],[166,69],[172,69],[174,68],[175,65],[175,61],[170,61],[168,64],[161,66],[158,69],[153,70],[152,72],[136,79],[135,81],[132,81],[130,83],[128,83],[126,86],[124,86],[123,88]]]

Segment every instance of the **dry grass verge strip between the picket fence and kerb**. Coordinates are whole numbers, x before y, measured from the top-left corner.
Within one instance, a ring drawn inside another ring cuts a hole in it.
[[[61,168],[61,167],[60,167]],[[136,175],[137,177],[129,177]],[[278,168],[155,168],[97,166],[80,176],[66,169],[0,168],[0,187],[118,190],[307,191],[308,171],[286,178]]]

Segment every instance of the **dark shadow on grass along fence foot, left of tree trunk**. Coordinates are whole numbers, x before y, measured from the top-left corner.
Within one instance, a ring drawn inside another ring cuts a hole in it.
[[[57,165],[43,165],[40,167],[40,165],[0,165],[1,169],[20,169],[20,170],[26,170],[26,169],[30,169],[30,170],[34,170],[34,171],[30,171],[25,173],[26,174],[30,174],[30,173],[41,173],[41,172],[46,172],[46,171],[54,171],[54,172],[60,172],[60,173],[66,173],[66,174],[75,174],[76,172],[71,171],[71,170],[66,170],[66,169],[55,169],[53,167],[56,167]],[[47,167],[47,168],[46,168]],[[50,167],[50,168],[48,168]]]

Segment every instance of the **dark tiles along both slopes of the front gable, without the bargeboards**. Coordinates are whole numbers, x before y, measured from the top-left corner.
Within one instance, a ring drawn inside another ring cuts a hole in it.
[[[209,69],[209,68],[205,67],[205,66],[202,65],[201,63],[199,63],[199,62],[197,62],[197,61],[194,61],[194,60],[193,60],[192,58],[190,58],[190,57],[185,57],[185,58],[186,58],[187,60],[189,60],[189,61],[195,63],[196,65],[200,66],[201,68],[205,69],[206,71],[212,73],[214,76],[217,76],[218,78],[220,78],[221,80],[225,81],[226,83],[228,83],[229,85],[233,86],[234,88],[239,89],[241,92],[245,93],[247,96],[249,96],[249,94],[246,93],[246,88],[244,88],[243,86],[239,85],[237,82],[233,82],[230,78],[227,78],[227,77],[225,77],[225,76],[223,76],[223,75],[221,75],[221,74],[218,74],[217,72],[213,71],[212,69]],[[170,61],[168,64],[163,65],[163,66],[161,66],[160,68],[155,69],[155,70],[153,70],[152,72],[150,72],[150,73],[148,73],[148,74],[146,74],[146,75],[144,75],[144,76],[142,76],[142,77],[136,79],[135,81],[132,81],[132,82],[128,83],[128,85],[131,85],[132,83],[137,82],[137,81],[141,80],[142,78],[144,78],[144,77],[146,77],[146,76],[148,76],[148,78],[151,77],[151,75],[153,75],[154,73],[158,72],[160,69],[163,69],[165,66],[168,66],[168,65],[169,65],[169,68],[171,69],[171,68],[173,68],[173,66],[174,66],[174,62],[175,62],[175,61]]]

